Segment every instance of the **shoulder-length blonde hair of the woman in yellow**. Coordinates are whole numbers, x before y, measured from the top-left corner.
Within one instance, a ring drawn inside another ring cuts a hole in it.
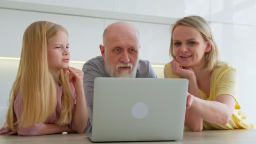
[[[179,25],[185,25],[192,27],[198,30],[203,39],[209,41],[211,43],[211,50],[205,53],[205,65],[204,68],[208,70],[212,70],[216,64],[216,61],[220,60],[219,49],[216,45],[215,40],[213,39],[213,34],[211,32],[211,28],[208,22],[200,16],[187,16],[182,19],[176,21],[171,28],[171,35],[173,35],[174,29]],[[170,56],[173,59],[176,59],[174,51],[173,51],[173,37],[171,36],[171,44],[170,44]]]

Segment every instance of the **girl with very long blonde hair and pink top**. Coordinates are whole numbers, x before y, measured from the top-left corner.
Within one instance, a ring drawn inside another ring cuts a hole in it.
[[[67,30],[36,21],[23,35],[18,73],[0,134],[83,133],[88,112],[83,72],[69,67]]]

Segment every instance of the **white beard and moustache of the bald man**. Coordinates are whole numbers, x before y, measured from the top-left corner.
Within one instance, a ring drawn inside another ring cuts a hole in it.
[[[137,60],[134,67],[131,63],[129,63],[129,64],[124,64],[124,63],[120,64],[119,63],[119,64],[117,64],[117,66],[115,68],[112,68],[109,66],[108,58],[106,55],[105,55],[104,62],[105,62],[106,72],[110,77],[136,77],[137,69],[139,67],[139,59]],[[117,72],[118,67],[131,67],[131,72],[130,72],[130,70],[124,70],[124,71],[121,71],[120,73],[118,73]]]

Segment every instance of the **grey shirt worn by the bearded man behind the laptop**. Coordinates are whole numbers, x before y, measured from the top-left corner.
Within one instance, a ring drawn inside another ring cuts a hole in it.
[[[91,133],[93,120],[93,89],[96,77],[110,77],[105,70],[105,63],[102,56],[97,56],[83,65],[83,88],[85,91],[86,105],[88,108],[89,122],[86,133]],[[139,60],[139,67],[136,77],[157,78],[155,71],[149,61]]]

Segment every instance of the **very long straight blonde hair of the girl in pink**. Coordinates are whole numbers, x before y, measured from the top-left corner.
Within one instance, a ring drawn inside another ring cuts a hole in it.
[[[23,35],[21,59],[16,79],[11,88],[6,123],[16,129],[13,103],[21,95],[22,115],[19,126],[29,127],[43,123],[56,109],[56,83],[47,60],[47,40],[59,31],[67,29],[49,21],[36,21],[27,27]],[[56,124],[71,122],[74,101],[69,85],[68,72],[61,69],[59,82],[63,86],[61,115]]]

